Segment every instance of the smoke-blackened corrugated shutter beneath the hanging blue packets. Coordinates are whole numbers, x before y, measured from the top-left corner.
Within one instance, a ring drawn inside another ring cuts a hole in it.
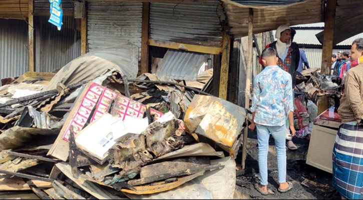
[[[63,1],[62,1],[63,2]],[[35,17],[36,71],[50,72],[81,55],[77,19],[63,16],[62,29],[48,22],[49,16]]]

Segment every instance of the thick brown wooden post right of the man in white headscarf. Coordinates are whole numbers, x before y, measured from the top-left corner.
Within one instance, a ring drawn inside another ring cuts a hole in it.
[[[326,1],[324,20],[324,39],[322,43],[321,73],[330,74],[331,53],[333,51],[333,35],[335,22],[336,0]]]

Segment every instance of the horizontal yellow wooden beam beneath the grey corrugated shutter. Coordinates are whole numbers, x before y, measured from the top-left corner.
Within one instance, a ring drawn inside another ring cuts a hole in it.
[[[182,50],[188,50],[200,53],[209,53],[209,54],[220,54],[222,52],[222,47],[201,46],[196,44],[185,44],[174,41],[163,41],[155,39],[149,39],[149,45],[165,47],[165,48],[173,48],[173,49],[182,49]]]

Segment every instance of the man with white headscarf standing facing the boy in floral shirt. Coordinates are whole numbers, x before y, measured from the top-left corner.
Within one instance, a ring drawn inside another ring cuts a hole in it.
[[[291,42],[291,28],[286,24],[278,26],[275,37],[277,40],[268,44],[265,48],[271,47],[276,50],[278,56],[277,65],[290,73],[292,88],[294,88],[296,84],[295,71],[300,60],[299,46],[297,43]],[[263,65],[261,58],[260,63]],[[286,127],[286,145],[289,149],[296,149],[296,145],[291,140],[288,120],[286,120]]]

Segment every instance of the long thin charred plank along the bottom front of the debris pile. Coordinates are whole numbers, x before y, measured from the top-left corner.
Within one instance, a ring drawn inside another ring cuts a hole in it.
[[[171,172],[171,173],[164,173],[161,175],[155,175],[155,176],[150,176],[150,177],[145,177],[145,178],[140,178],[140,179],[135,179],[135,180],[129,180],[128,183],[131,186],[141,185],[141,184],[146,184],[146,183],[150,183],[150,182],[154,182],[154,181],[158,181],[158,180],[165,180],[165,179],[172,178],[172,177],[190,175],[190,174],[194,174],[194,173],[198,173],[198,172],[204,172],[207,170],[219,169],[222,167],[223,167],[223,165],[221,165],[221,164],[212,164],[212,165],[194,167],[194,168],[190,168],[187,170],[175,171],[175,172]]]

